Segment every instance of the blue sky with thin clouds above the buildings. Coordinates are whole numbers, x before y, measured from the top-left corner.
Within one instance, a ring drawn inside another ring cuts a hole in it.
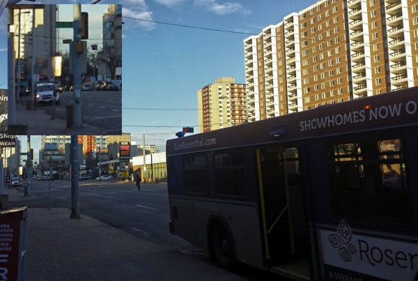
[[[82,4],[91,2],[81,1]],[[56,1],[37,0],[36,3]],[[195,132],[199,131],[196,95],[201,87],[218,77],[235,77],[235,82],[245,83],[242,40],[315,1],[126,0],[121,3],[123,132],[130,132],[132,140],[139,143],[145,134],[147,144],[156,144],[164,151],[165,141],[175,137],[183,126],[194,126]],[[5,13],[0,20],[1,66],[7,59],[7,43],[3,38],[6,39]],[[2,67],[0,85],[4,82],[6,70]]]

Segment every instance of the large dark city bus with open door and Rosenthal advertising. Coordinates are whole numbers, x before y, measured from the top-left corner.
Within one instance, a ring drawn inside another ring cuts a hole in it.
[[[418,280],[418,87],[167,140],[169,231],[221,266]]]

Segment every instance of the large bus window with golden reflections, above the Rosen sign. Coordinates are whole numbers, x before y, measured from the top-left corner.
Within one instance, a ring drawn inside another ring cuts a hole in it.
[[[410,221],[400,139],[332,144],[328,168],[334,215],[377,222]]]

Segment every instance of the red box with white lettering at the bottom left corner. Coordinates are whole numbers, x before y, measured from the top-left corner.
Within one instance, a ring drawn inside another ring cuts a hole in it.
[[[0,281],[23,280],[27,207],[0,212]]]

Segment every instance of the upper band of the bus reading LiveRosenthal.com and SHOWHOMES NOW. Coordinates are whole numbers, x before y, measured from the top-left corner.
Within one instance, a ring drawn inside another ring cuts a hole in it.
[[[418,87],[167,140],[167,155],[418,125]]]

